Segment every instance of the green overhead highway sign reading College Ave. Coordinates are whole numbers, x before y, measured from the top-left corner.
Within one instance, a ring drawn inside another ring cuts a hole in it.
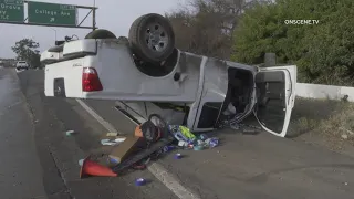
[[[76,25],[76,7],[44,2],[28,2],[29,23]]]

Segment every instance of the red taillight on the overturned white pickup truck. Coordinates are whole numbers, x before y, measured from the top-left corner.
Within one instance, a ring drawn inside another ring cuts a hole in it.
[[[103,87],[96,70],[93,67],[84,67],[82,72],[82,91],[95,92],[102,90]]]

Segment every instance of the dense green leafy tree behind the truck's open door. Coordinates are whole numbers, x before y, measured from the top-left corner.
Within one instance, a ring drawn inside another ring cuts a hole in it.
[[[354,85],[354,2],[352,0],[278,0],[244,12],[233,35],[231,60],[259,64],[266,52],[296,64],[299,80]],[[287,24],[285,20],[319,20]]]

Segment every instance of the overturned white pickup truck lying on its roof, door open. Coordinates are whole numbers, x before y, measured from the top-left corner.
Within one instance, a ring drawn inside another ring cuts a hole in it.
[[[158,14],[138,18],[128,39],[95,30],[49,49],[41,61],[46,96],[117,101],[137,122],[156,113],[202,132],[253,112],[267,132],[284,137],[294,106],[296,66],[257,67],[181,52]]]

